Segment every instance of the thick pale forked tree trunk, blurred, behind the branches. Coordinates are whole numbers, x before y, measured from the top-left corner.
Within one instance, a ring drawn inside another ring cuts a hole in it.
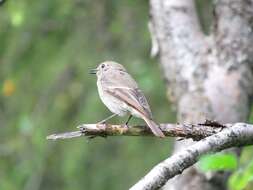
[[[150,0],[152,54],[159,54],[179,122],[246,121],[253,91],[253,1],[217,0],[209,36],[193,0]],[[155,50],[154,50],[155,49]],[[175,151],[186,147],[177,142]],[[226,175],[191,167],[165,189],[225,189]]]

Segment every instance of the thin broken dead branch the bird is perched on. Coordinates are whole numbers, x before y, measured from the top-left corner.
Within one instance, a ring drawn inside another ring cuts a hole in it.
[[[200,140],[213,135],[230,124],[221,125],[216,122],[206,121],[203,124],[160,124],[160,128],[169,137],[191,138]],[[106,136],[153,136],[147,126],[125,126],[111,124],[82,124],[78,131],[52,134],[47,136],[49,140],[68,139],[80,136],[106,137]]]

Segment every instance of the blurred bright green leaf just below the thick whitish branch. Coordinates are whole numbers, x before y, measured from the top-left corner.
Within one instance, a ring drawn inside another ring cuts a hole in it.
[[[231,153],[205,155],[200,158],[197,166],[203,172],[234,170],[237,167],[237,157]]]

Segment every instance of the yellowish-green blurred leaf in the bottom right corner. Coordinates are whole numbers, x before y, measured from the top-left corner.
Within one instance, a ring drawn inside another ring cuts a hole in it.
[[[249,182],[253,182],[253,160],[244,169],[233,173],[228,181],[229,189],[242,190],[247,187]]]

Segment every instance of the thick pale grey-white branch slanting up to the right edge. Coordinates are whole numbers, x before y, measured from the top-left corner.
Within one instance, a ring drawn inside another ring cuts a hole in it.
[[[131,190],[149,190],[162,187],[170,178],[181,174],[195,164],[199,157],[231,147],[253,144],[253,125],[236,123],[221,132],[209,136],[156,165]]]

